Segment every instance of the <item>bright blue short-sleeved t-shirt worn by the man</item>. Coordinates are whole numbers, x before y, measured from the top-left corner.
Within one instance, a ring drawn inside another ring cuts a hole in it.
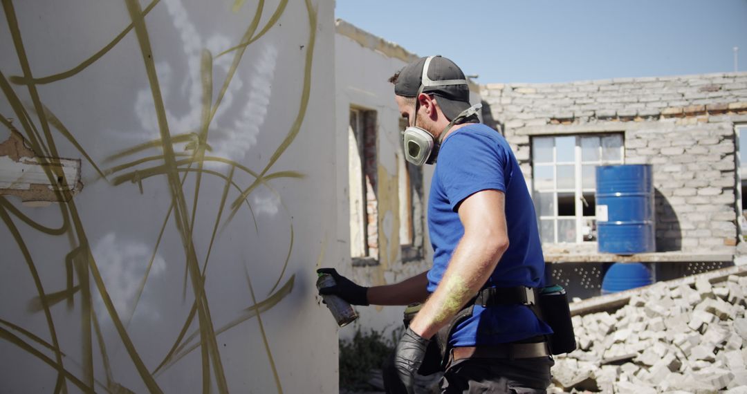
[[[428,201],[428,229],[433,246],[433,268],[428,291],[433,293],[444,275],[465,229],[459,204],[481,190],[500,190],[506,197],[509,248],[485,287],[544,285],[545,258],[539,240],[534,205],[509,144],[497,131],[474,124],[459,128],[441,144]],[[508,343],[551,334],[529,307],[475,305],[472,317],[456,327],[454,346]]]

